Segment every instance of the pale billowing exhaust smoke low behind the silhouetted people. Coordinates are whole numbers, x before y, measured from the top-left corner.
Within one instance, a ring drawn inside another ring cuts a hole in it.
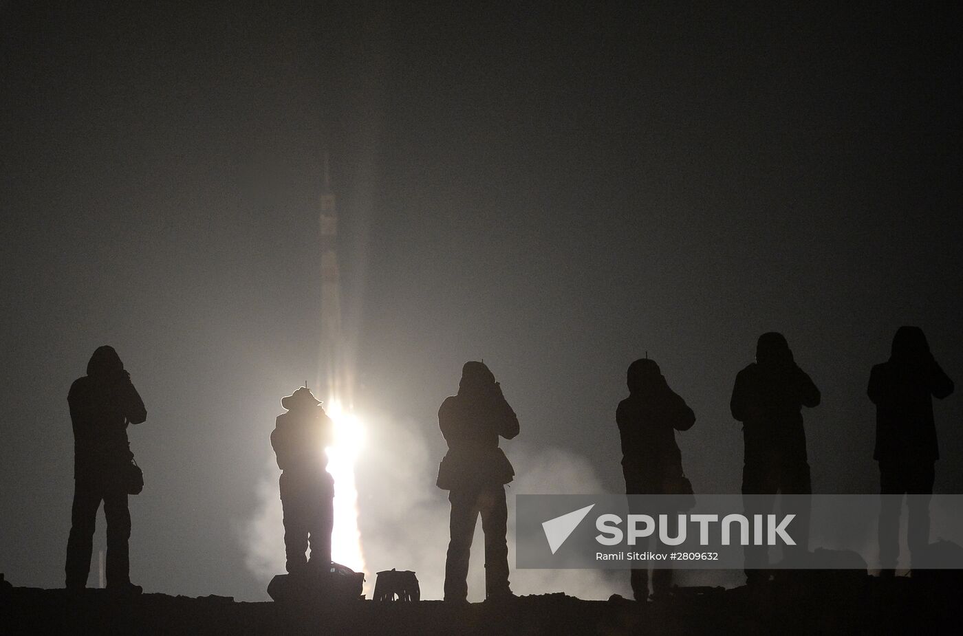
[[[445,452],[436,424],[365,414],[367,444],[357,471],[359,527],[368,567],[366,592],[380,570],[417,572],[422,598],[442,598],[445,552],[448,548],[449,502],[435,484],[438,462]],[[524,430],[523,430],[524,435]],[[508,560],[511,587],[518,595],[563,592],[579,598],[631,598],[628,572],[594,570],[516,570],[514,568],[514,495],[594,494],[605,492],[584,457],[557,447],[534,447],[522,441],[504,445],[518,473],[508,488]],[[269,470],[258,486],[258,508],[245,527],[247,567],[265,583],[284,572],[281,505],[277,469]],[[484,598],[484,558],[481,520],[476,527],[469,571],[469,599]],[[333,555],[338,561],[338,554]],[[343,562],[344,563],[344,562]],[[345,563],[351,567],[351,563]],[[721,575],[720,575],[721,574]],[[688,585],[735,584],[742,572],[679,572]],[[728,580],[733,579],[733,580]]]

